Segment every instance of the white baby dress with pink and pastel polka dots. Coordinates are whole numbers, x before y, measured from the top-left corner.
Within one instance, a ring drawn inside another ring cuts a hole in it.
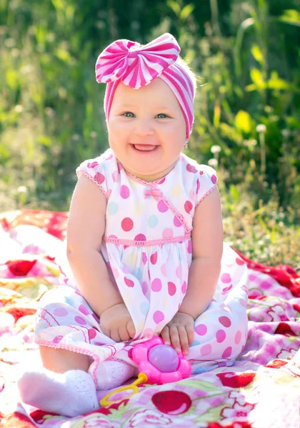
[[[191,229],[196,206],[216,187],[213,168],[181,154],[164,177],[147,183],[124,170],[109,149],[81,163],[77,175],[104,193],[106,230],[101,253],[136,328],[136,339],[161,332],[179,310],[188,287]],[[81,296],[65,255],[61,285],[44,295],[36,342],[90,355],[94,376],[111,356],[131,362],[132,345],[114,343]],[[194,373],[232,365],[246,342],[246,265],[224,244],[214,298],[195,322],[189,359]]]

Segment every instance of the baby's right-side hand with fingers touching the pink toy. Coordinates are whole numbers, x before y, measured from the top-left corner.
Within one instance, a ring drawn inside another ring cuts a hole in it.
[[[172,345],[176,352],[181,349],[189,355],[189,345],[194,341],[194,318],[184,312],[177,312],[173,320],[161,330],[165,345]]]

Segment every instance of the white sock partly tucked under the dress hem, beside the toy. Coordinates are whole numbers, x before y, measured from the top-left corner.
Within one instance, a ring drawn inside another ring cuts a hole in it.
[[[139,370],[122,360],[105,360],[97,370],[97,383],[100,390],[120,387],[131,377],[137,377]]]

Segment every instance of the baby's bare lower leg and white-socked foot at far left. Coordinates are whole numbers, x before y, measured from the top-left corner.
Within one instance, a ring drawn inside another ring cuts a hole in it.
[[[88,355],[51,347],[40,351],[45,368],[25,372],[18,381],[24,402],[69,417],[99,408]]]

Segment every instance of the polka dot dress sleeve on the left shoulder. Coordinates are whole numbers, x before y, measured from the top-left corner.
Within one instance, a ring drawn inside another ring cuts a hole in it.
[[[106,199],[108,199],[108,185],[106,179],[105,168],[101,163],[101,158],[88,159],[82,162],[78,168],[76,168],[76,175],[79,178],[80,175],[84,175],[93,181],[104,193]]]

